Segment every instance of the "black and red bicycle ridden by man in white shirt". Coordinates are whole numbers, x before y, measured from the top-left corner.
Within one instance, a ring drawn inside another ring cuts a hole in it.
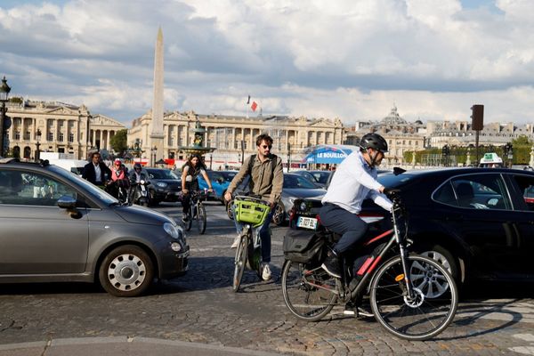
[[[363,248],[370,254],[355,259],[360,263],[343,261],[341,279],[320,267],[338,235],[315,233],[314,249],[308,254],[286,251],[290,242],[284,241],[282,293],[287,308],[297,318],[317,321],[336,304],[358,304],[368,295],[375,319],[395,336],[426,340],[449,326],[457,311],[456,283],[441,263],[409,254],[408,219],[401,197],[398,192],[388,195],[393,203],[392,229],[366,239]],[[319,223],[316,218],[300,216],[296,225],[317,229]],[[357,308],[355,314],[358,316]]]

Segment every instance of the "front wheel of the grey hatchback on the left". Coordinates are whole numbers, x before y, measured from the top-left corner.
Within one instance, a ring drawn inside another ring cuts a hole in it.
[[[125,245],[112,250],[102,261],[99,279],[110,295],[137,296],[154,278],[154,266],[141,247]]]

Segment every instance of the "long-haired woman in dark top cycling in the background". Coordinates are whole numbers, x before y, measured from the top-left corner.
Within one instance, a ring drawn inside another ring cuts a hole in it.
[[[212,192],[211,181],[206,174],[206,166],[198,155],[192,155],[182,167],[182,221],[190,219],[190,190],[198,190],[198,174],[202,174],[209,189]]]

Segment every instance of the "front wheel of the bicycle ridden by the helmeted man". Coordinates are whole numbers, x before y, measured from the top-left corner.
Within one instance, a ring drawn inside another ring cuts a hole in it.
[[[454,319],[457,286],[441,263],[431,258],[409,255],[406,263],[413,295],[408,294],[401,256],[393,257],[376,271],[371,282],[371,308],[376,320],[393,335],[427,340]],[[440,293],[433,293],[433,288],[440,288]]]

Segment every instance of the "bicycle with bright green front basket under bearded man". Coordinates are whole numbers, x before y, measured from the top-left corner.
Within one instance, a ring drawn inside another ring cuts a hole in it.
[[[237,292],[243,279],[243,272],[247,267],[256,271],[261,278],[262,239],[260,229],[271,212],[268,201],[261,198],[237,196],[233,199],[235,218],[243,223],[240,241],[234,259],[234,276],[232,290]]]

